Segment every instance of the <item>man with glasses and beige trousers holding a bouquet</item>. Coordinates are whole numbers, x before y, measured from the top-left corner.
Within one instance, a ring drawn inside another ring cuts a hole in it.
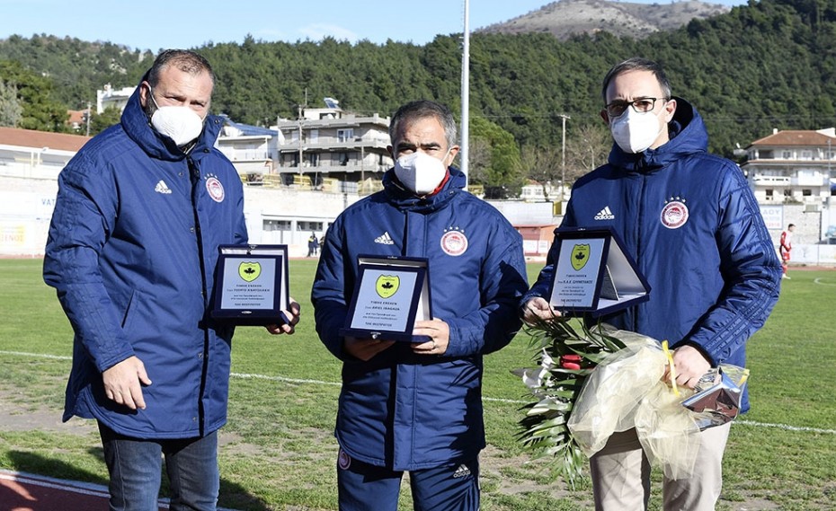
[[[609,163],[575,182],[561,227],[618,233],[652,290],[647,302],[601,321],[669,340],[676,383],[694,388],[710,367],[746,365],[746,340],[778,300],[780,263],[743,172],[707,153],[702,119],[671,96],[662,66],[630,58],[610,69],[602,93],[615,145]],[[555,262],[553,249],[523,297],[527,322],[559,315],[543,298]],[[692,476],[663,481],[664,509],[715,508],[729,428],[699,434]],[[650,465],[635,429],[610,436],[590,464],[597,510],[647,508]]]

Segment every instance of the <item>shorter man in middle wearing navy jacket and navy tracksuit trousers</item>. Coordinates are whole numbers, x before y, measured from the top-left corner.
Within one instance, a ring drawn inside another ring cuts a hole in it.
[[[396,159],[384,189],[328,228],[311,294],[316,330],[342,360],[335,435],[340,509],[395,510],[404,471],[416,509],[476,510],[485,447],[482,356],[520,328],[527,289],[522,240],[462,188],[449,110],[413,101],[389,127]],[[435,316],[415,323],[426,342],[343,338],[360,254],[429,260]]]

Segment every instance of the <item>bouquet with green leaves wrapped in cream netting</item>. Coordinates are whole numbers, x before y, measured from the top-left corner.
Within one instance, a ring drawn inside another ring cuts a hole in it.
[[[667,477],[689,477],[699,431],[725,424],[740,409],[746,369],[712,369],[695,393],[662,381],[666,366],[671,382],[676,378],[666,341],[564,318],[531,325],[529,334],[539,366],[519,374],[537,401],[523,407],[520,439],[556,459],[570,487],[609,436],[631,428]]]

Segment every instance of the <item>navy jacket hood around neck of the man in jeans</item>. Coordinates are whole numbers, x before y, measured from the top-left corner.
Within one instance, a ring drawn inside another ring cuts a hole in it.
[[[139,84],[147,80],[148,74],[142,76]],[[139,85],[137,89],[131,94],[125,110],[122,112],[120,124],[128,136],[142,148],[152,158],[167,161],[182,160],[186,156],[182,149],[174,144],[174,141],[163,135],[157,133],[156,129],[151,126],[148,121],[148,116],[139,102]],[[200,132],[197,142],[191,149],[191,154],[203,149],[211,148],[215,145],[215,140],[218,138],[220,128],[223,126],[223,119],[218,116],[208,115],[203,121],[203,131]]]

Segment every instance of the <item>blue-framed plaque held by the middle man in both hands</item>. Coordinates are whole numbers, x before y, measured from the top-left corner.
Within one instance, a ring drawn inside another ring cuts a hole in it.
[[[416,321],[431,320],[430,272],[426,259],[360,255],[342,337],[425,342],[413,335]]]

